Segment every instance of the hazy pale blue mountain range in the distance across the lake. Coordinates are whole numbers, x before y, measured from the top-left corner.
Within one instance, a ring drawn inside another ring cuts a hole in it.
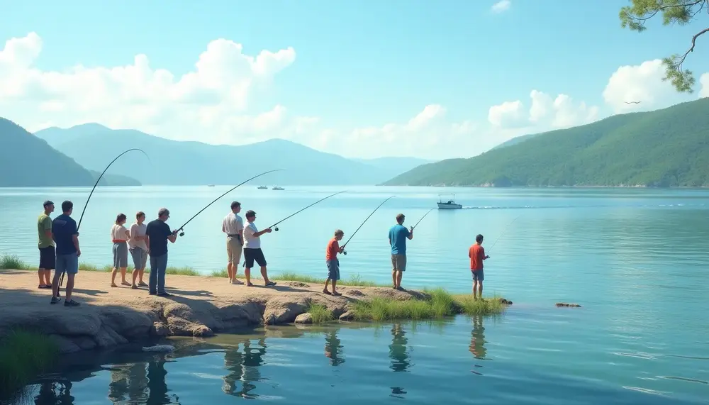
[[[234,184],[272,169],[286,171],[267,174],[254,183],[378,184],[420,162],[388,157],[350,160],[281,139],[240,146],[181,142],[135,130],[113,130],[96,123],[47,128],[35,135],[91,170],[104,170],[108,162],[128,148],[145,150],[152,165],[142,153],[128,153],[106,172],[140,179],[143,184]]]

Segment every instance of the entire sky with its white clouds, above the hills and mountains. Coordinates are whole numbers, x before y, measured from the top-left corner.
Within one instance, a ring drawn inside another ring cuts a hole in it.
[[[0,116],[440,160],[709,96],[709,34],[685,63],[693,94],[660,63],[709,18],[637,33],[626,4],[0,0]]]

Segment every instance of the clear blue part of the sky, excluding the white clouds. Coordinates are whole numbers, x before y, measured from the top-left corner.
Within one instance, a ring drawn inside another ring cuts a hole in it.
[[[42,38],[34,67],[45,71],[127,65],[143,53],[151,67],[179,76],[217,38],[248,55],[292,47],[296,60],[250,111],[277,103],[345,132],[405,123],[429,104],[445,106],[448,121],[485,123],[493,105],[520,99],[528,107],[532,89],[568,94],[607,116],[602,93],[618,67],[683,52],[698,30],[659,20],[644,33],[623,30],[618,11],[627,1],[611,0],[511,0],[501,13],[481,0],[5,3],[0,43],[34,31]],[[698,76],[709,71],[707,43],[687,62]]]

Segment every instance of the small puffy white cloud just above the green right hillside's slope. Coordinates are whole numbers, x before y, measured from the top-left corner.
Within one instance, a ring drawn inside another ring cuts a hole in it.
[[[542,91],[532,90],[530,108],[527,109],[521,100],[505,101],[491,106],[488,111],[488,121],[495,128],[537,128],[543,131],[551,128],[569,128],[598,119],[598,107],[587,106],[581,101],[576,103],[570,96],[559,94],[552,96]]]

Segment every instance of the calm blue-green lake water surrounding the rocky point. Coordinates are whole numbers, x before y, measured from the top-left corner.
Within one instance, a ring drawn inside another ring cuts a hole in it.
[[[130,218],[142,210],[152,218],[167,206],[169,224],[177,228],[228,188],[98,188],[81,225],[82,258],[111,261],[109,230],[119,212]],[[341,190],[242,186],[186,227],[169,247],[169,264],[204,273],[225,266],[220,226],[233,199],[242,202],[242,212],[257,211],[264,228]],[[88,192],[0,189],[0,253],[37,262],[42,201],[52,199],[60,211],[61,201],[71,199],[78,220]],[[269,272],[324,277],[325,244],[335,228],[346,240],[382,200],[396,195],[340,259],[345,278],[387,282],[394,216],[405,213],[406,225],[413,225],[435,207],[440,192],[456,193],[465,208],[432,211],[416,228],[403,287],[469,292],[467,248],[483,233],[491,255],[485,292],[514,301],[505,315],[268,328],[179,340],[170,355],[93,355],[82,367],[42,379],[28,403],[709,403],[707,191],[349,187],[264,235]],[[557,309],[559,301],[582,307]]]

